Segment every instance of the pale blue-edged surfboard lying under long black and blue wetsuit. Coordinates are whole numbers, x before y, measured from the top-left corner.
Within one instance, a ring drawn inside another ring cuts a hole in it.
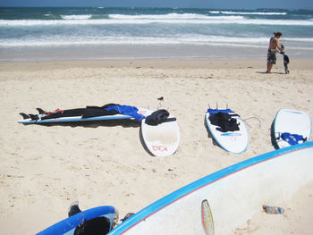
[[[147,109],[139,108],[137,113],[143,114],[146,113]],[[144,114],[143,114],[144,115]],[[43,124],[43,123],[55,123],[55,122],[89,122],[89,121],[104,121],[104,120],[123,120],[123,119],[132,119],[129,115],[123,114],[115,114],[115,115],[105,115],[105,116],[97,116],[97,117],[89,117],[82,118],[81,116],[73,116],[73,117],[62,117],[62,118],[53,118],[53,119],[44,119],[40,118],[44,116],[43,114],[38,114],[38,120],[22,119],[18,121],[22,124]]]

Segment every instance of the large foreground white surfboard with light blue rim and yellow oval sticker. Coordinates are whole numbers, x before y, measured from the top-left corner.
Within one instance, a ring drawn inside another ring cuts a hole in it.
[[[109,234],[231,234],[263,205],[280,206],[311,182],[312,164],[313,142],[258,155],[157,200]]]

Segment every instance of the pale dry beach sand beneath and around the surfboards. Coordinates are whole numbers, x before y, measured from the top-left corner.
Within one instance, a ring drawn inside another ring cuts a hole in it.
[[[41,231],[66,218],[75,200],[83,210],[115,206],[123,217],[212,172],[275,150],[270,127],[279,109],[313,118],[312,64],[312,59],[292,60],[291,73],[283,74],[279,60],[273,73],[265,74],[265,60],[0,63],[1,234]],[[181,130],[175,155],[149,155],[134,121],[17,122],[19,113],[37,113],[37,107],[53,111],[108,103],[168,109]],[[227,153],[208,138],[204,117],[216,103],[247,119],[250,145],[243,154]],[[309,184],[284,203],[283,216],[260,211],[230,234],[310,234],[312,195]]]

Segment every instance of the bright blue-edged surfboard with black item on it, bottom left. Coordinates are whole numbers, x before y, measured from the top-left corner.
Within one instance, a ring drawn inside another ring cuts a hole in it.
[[[44,231],[40,231],[37,235],[55,235],[66,234],[72,235],[77,226],[82,222],[89,221],[91,219],[105,216],[110,220],[110,227],[113,229],[114,222],[118,221],[118,211],[114,206],[97,206],[89,210],[85,210],[79,214],[74,214],[69,218],[64,219],[61,222],[57,222],[54,225],[48,227]]]

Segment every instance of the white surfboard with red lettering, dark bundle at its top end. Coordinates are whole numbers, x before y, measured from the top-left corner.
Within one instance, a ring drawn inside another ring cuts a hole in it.
[[[146,116],[153,113],[148,111]],[[170,115],[169,119],[174,117]],[[173,155],[180,142],[180,130],[177,121],[163,122],[156,126],[148,125],[146,120],[141,121],[141,136],[144,144],[152,155]]]

